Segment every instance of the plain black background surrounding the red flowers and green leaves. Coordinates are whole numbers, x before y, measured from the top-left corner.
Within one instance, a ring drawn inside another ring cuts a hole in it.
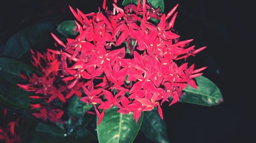
[[[207,46],[189,62],[208,67],[204,76],[218,85],[224,102],[214,107],[164,104],[170,142],[256,142],[253,5],[246,1],[172,0],[165,1],[165,13],[178,3],[175,30],[180,39],[194,39],[193,45]],[[3,45],[11,35],[29,25],[73,20],[68,5],[90,13],[97,12],[102,1],[9,0],[1,1],[0,5]],[[134,142],[150,141],[139,133]]]

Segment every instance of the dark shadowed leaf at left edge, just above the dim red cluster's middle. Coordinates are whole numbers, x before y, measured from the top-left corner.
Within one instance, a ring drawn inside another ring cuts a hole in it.
[[[18,60],[0,57],[0,71],[19,76],[20,71],[24,71],[26,74],[29,75],[36,70],[34,67]]]

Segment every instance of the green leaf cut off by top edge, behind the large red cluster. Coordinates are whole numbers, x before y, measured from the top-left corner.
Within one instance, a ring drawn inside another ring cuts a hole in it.
[[[160,12],[163,13],[163,11],[164,11],[164,1],[163,0],[147,0],[146,2],[151,3],[151,5],[155,9],[160,8]],[[138,0],[133,0],[133,3],[138,5]],[[122,3],[123,6],[126,6],[128,4],[131,4],[131,0],[124,0]],[[142,4],[142,1],[141,1],[141,4]]]

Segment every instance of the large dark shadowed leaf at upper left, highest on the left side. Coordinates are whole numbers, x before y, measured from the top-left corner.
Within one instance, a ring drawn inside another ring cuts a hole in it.
[[[54,30],[55,22],[45,22],[20,30],[5,44],[2,55],[19,59],[37,43],[45,41]]]

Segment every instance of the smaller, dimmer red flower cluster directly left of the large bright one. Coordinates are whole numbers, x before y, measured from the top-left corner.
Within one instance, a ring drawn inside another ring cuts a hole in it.
[[[38,73],[39,76],[34,73],[31,77],[27,77],[25,74],[20,73],[20,76],[28,80],[29,83],[18,84],[18,86],[36,94],[30,96],[30,98],[42,100],[40,103],[30,104],[31,109],[40,109],[40,112],[33,113],[33,116],[44,121],[49,119],[52,122],[60,122],[64,112],[61,109],[55,109],[55,104],[57,101],[65,103],[66,98],[72,96],[74,91],[68,90],[67,84],[61,80],[61,74],[58,72],[61,62],[56,54],[52,54],[49,51],[45,54],[39,52],[35,54],[32,50],[31,53],[33,57],[32,65],[40,71]],[[68,95],[66,98],[65,94]]]

